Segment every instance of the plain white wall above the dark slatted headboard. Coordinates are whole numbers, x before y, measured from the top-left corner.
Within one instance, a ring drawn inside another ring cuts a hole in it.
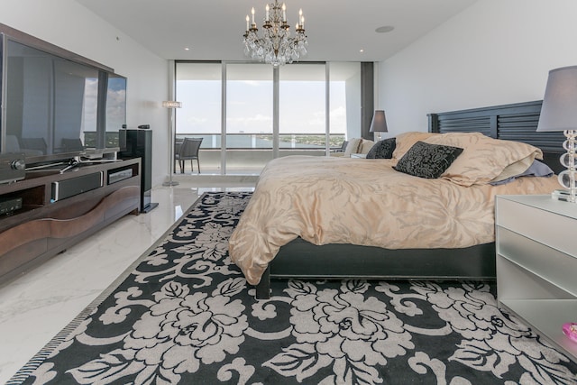
[[[550,69],[577,64],[577,1],[478,0],[379,63],[389,135],[427,113],[543,98]]]

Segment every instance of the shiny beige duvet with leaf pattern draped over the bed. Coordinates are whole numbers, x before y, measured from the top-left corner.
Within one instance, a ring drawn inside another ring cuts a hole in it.
[[[230,238],[234,263],[257,284],[280,246],[462,248],[494,241],[494,196],[549,194],[556,178],[459,186],[393,170],[393,160],[290,156],[271,160]]]

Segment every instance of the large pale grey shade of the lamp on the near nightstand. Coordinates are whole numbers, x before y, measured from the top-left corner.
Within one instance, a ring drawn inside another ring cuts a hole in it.
[[[577,66],[549,71],[537,131],[577,130]]]

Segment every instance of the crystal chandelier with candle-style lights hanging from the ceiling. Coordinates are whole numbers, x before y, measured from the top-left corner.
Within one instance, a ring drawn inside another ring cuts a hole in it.
[[[270,9],[272,8],[272,9]],[[289,24],[287,23],[287,6],[279,5],[278,0],[267,4],[263,33],[259,36],[259,30],[254,23],[254,8],[252,8],[252,23],[246,15],[246,32],[244,32],[244,54],[253,60],[279,66],[292,63],[307,54],[307,35],[305,35],[305,17],[303,10],[298,11],[298,23],[295,27],[295,37],[290,37]]]

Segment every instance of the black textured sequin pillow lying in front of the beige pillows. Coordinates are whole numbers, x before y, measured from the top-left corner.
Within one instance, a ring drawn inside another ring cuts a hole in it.
[[[462,148],[416,142],[393,169],[419,178],[439,178],[453,160],[463,152]]]

